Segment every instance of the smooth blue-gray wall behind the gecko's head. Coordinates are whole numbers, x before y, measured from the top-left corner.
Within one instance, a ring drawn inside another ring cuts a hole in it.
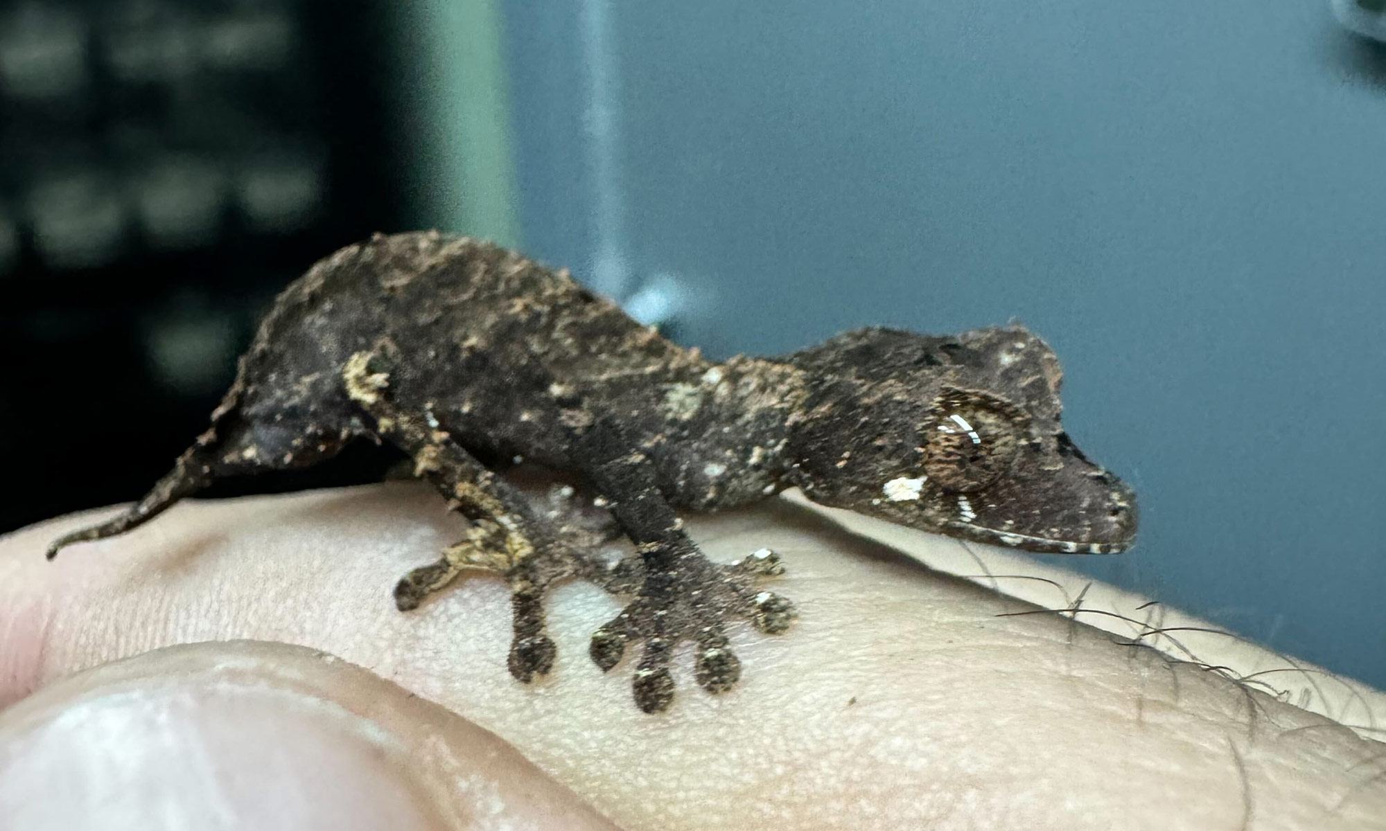
[[[1021,319],[1142,497],[1066,564],[1386,686],[1386,53],[1326,3],[557,6],[505,6],[531,252],[723,355]]]

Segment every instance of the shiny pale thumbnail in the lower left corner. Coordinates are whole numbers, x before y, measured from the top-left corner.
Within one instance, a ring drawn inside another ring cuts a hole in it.
[[[0,828],[446,828],[389,734],[297,691],[118,686],[0,735]]]

